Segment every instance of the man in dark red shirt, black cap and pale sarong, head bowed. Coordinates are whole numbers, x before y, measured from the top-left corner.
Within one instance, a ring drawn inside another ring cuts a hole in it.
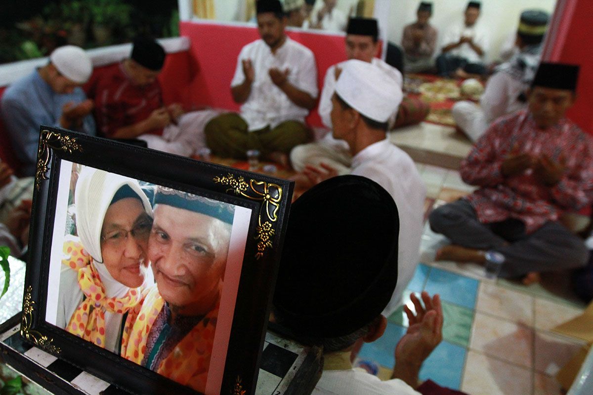
[[[151,38],[134,41],[129,59],[104,70],[86,86],[95,100],[98,133],[110,139],[140,139],[149,148],[190,156],[205,147],[203,128],[214,111],[185,113],[163,104],[157,76],[165,50]]]

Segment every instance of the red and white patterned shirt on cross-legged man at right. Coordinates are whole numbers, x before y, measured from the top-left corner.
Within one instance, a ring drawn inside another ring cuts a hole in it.
[[[549,187],[538,181],[533,170],[515,176],[500,174],[502,162],[511,155],[545,154],[565,172]],[[561,159],[562,158],[562,159]],[[591,138],[566,118],[546,130],[537,129],[527,111],[500,118],[476,142],[461,162],[461,178],[480,189],[466,197],[482,223],[515,218],[525,223],[525,232],[556,221],[562,211],[576,211],[593,199],[593,145]]]

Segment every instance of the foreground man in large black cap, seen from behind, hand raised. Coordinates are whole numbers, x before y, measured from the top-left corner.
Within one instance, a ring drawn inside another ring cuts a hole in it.
[[[410,325],[394,345],[391,380],[352,368],[355,343],[375,341],[387,327],[381,311],[399,281],[398,233],[407,232],[397,211],[380,185],[352,175],[322,182],[291,207],[270,329],[323,347],[316,389],[324,394],[419,394],[422,362],[441,342],[439,296],[422,293],[423,307],[412,295],[416,314],[404,307]]]

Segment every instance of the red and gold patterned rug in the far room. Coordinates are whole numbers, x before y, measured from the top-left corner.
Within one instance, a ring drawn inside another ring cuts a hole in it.
[[[455,126],[451,108],[460,100],[479,100],[479,97],[463,97],[460,86],[462,79],[442,78],[428,74],[409,74],[404,78],[403,91],[409,97],[419,97],[431,106],[426,122]]]

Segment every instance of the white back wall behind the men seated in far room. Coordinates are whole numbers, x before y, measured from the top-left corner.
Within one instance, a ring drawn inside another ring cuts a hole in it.
[[[400,45],[405,25],[416,20],[416,9],[420,0],[393,0],[390,10],[390,26],[388,38]],[[467,0],[432,0],[433,11],[431,24],[442,37],[448,25],[463,20],[463,12]],[[509,37],[514,36],[519,24],[521,11],[530,8],[554,11],[556,0],[482,0],[482,12],[479,23],[486,25],[490,31],[490,49],[486,60],[491,62],[498,58],[500,47]],[[441,47],[438,41],[437,48]],[[438,50],[436,51],[438,53]]]

